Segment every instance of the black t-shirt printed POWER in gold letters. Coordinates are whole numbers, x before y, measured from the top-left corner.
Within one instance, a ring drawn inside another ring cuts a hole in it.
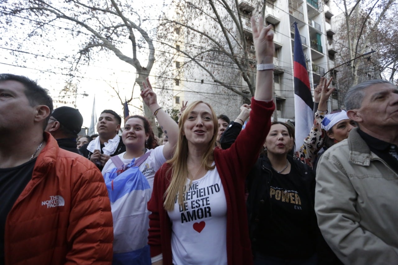
[[[264,238],[260,249],[265,255],[286,259],[305,259],[315,252],[314,207],[311,183],[292,171],[272,170],[269,212],[260,225]]]

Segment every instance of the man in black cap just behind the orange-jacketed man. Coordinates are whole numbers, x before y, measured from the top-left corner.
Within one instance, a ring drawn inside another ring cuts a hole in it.
[[[57,140],[60,148],[82,154],[77,150],[76,138],[83,125],[83,117],[77,109],[59,107],[54,109],[45,129]]]

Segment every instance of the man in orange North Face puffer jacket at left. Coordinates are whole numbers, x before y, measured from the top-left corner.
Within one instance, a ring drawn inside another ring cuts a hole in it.
[[[52,110],[47,90],[0,74],[0,264],[111,264],[103,177],[44,133]]]

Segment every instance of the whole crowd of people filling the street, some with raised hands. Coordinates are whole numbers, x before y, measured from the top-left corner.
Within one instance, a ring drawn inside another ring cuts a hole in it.
[[[176,123],[147,78],[161,138],[110,109],[78,136],[78,110],[0,74],[0,264],[398,264],[398,89],[369,80],[328,114],[321,78],[295,142],[271,122],[271,25],[251,21],[251,104],[230,121],[185,102]]]

